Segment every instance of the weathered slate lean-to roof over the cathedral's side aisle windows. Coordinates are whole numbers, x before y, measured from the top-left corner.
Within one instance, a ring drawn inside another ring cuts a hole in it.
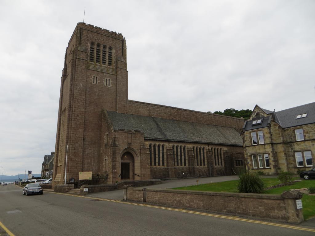
[[[231,127],[122,114],[113,111],[107,111],[107,115],[114,130],[141,131],[146,139],[243,145],[239,132]]]

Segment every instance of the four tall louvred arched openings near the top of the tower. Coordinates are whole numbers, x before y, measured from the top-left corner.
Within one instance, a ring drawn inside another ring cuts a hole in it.
[[[100,43],[95,45],[95,42],[91,42],[89,61],[112,66],[113,48],[111,46],[107,47],[106,45],[101,45]]]

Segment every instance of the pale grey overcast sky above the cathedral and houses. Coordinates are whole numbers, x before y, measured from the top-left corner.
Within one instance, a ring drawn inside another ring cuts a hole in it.
[[[3,175],[40,173],[55,149],[65,50],[84,7],[84,22],[126,38],[129,99],[204,112],[315,101],[313,0],[1,0]]]

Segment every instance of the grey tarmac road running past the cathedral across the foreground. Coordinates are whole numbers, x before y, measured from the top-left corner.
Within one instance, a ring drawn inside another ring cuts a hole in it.
[[[0,222],[11,235],[315,235],[315,227],[0,186]],[[275,224],[276,223],[276,224]],[[1,225],[0,224],[0,225]]]

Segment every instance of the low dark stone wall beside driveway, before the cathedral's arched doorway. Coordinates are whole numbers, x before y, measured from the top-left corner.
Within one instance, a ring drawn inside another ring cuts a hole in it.
[[[148,185],[161,184],[160,179],[152,179],[152,180],[124,180],[114,184],[98,184],[98,185],[82,185],[80,188],[80,195],[85,195],[89,193],[98,193],[98,192],[106,192],[113,191],[118,189],[123,189],[126,187],[141,187]],[[84,192],[84,188],[89,188],[89,191]],[[141,190],[142,191],[142,190]]]

